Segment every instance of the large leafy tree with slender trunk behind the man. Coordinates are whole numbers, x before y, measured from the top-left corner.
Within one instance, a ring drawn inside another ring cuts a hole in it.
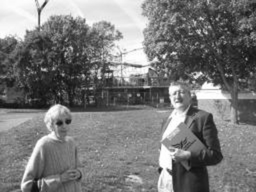
[[[256,3],[250,0],[146,0],[145,52],[168,75],[202,72],[231,95],[231,120],[237,121],[238,92],[255,72]]]

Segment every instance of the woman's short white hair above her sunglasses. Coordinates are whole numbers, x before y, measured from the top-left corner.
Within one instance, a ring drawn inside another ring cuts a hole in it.
[[[52,124],[54,121],[60,118],[72,118],[70,109],[61,104],[56,104],[52,106],[46,113],[44,117],[44,122],[49,131],[52,131]]]

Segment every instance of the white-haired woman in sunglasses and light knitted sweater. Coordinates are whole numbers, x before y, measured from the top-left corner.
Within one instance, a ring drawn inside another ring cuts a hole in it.
[[[24,172],[21,190],[81,192],[83,169],[77,157],[74,140],[67,136],[72,116],[65,106],[56,104],[45,114],[50,133],[40,138]]]

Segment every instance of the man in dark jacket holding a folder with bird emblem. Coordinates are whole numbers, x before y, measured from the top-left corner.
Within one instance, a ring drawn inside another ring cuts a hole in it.
[[[223,159],[212,114],[191,105],[191,92],[187,84],[171,84],[169,95],[174,109],[163,121],[161,140],[183,122],[204,143],[205,149],[197,152],[175,149],[170,152],[162,144],[158,191],[209,192],[206,166],[218,164]],[[190,169],[186,170],[180,161],[188,161]]]

